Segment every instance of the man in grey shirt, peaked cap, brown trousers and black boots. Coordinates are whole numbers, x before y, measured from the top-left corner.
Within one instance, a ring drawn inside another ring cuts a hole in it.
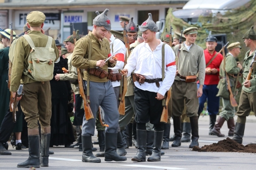
[[[191,122],[192,142],[189,148],[198,146],[198,115],[199,107],[198,98],[202,96],[202,88],[204,85],[205,75],[205,59],[204,51],[201,47],[195,44],[197,37],[196,27],[190,27],[183,31],[186,41],[181,44],[180,55],[179,45],[174,47],[174,53],[178,56],[177,72],[182,77],[176,76],[172,85],[172,114],[174,119],[175,139],[172,146],[180,146],[181,144],[181,122],[180,116],[184,110],[184,105],[187,106],[186,114]],[[187,83],[185,77],[195,76],[198,73],[200,87],[197,89],[195,82]],[[185,100],[185,104],[184,104]]]

